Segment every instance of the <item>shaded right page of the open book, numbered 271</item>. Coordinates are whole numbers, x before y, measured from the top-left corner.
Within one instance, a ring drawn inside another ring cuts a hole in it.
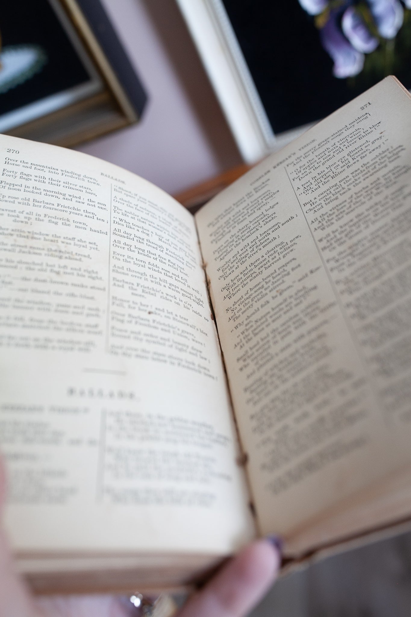
[[[289,555],[411,516],[409,144],[386,78],[196,215],[259,528]]]

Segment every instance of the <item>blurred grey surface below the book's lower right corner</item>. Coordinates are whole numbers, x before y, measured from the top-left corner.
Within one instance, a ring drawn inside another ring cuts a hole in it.
[[[277,582],[250,617],[409,617],[411,533]]]

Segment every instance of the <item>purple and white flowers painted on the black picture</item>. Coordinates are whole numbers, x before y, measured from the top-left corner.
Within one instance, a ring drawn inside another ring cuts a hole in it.
[[[298,0],[309,15],[316,16],[322,46],[334,61],[338,78],[354,77],[364,67],[380,39],[394,39],[404,22],[400,0]],[[402,0],[411,9],[411,0]]]

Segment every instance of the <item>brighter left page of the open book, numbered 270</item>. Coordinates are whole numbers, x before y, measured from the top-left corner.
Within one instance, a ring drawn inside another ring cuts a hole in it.
[[[78,152],[0,155],[15,551],[230,552],[253,526],[192,216]]]

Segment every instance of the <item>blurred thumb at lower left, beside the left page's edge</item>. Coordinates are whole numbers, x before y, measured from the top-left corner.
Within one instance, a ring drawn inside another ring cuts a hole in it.
[[[0,457],[0,516],[6,499],[6,472]],[[30,594],[14,570],[0,520],[0,617],[38,617]]]

